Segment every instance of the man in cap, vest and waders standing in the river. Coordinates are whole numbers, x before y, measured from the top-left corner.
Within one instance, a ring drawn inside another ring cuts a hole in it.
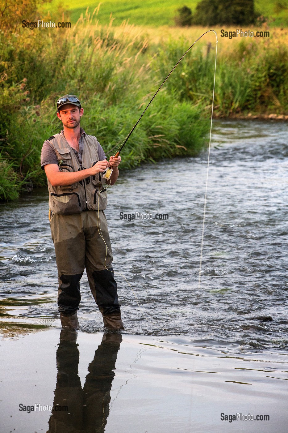
[[[80,279],[86,268],[91,292],[104,326],[123,330],[106,216],[106,183],[118,178],[121,157],[105,153],[96,137],[80,128],[83,108],[75,95],[57,101],[63,130],[46,140],[41,152],[49,191],[49,220],[58,268],[58,310],[62,327],[79,329]]]

